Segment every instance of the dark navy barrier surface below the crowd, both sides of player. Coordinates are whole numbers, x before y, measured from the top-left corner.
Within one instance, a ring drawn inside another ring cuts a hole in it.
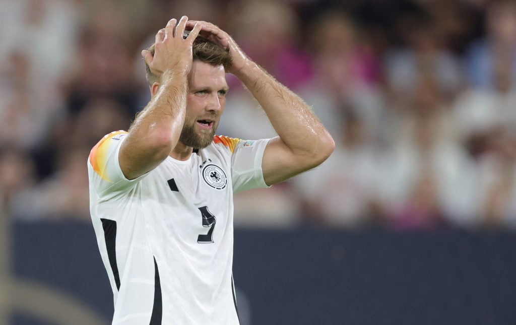
[[[110,318],[112,293],[90,225],[17,223],[14,234],[15,277]],[[239,229],[233,274],[243,323],[513,324],[514,247],[509,232]]]

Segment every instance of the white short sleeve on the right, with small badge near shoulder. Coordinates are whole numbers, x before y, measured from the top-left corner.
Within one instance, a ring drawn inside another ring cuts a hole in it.
[[[262,159],[270,139],[236,141],[231,156],[233,192],[269,187],[265,184]]]

